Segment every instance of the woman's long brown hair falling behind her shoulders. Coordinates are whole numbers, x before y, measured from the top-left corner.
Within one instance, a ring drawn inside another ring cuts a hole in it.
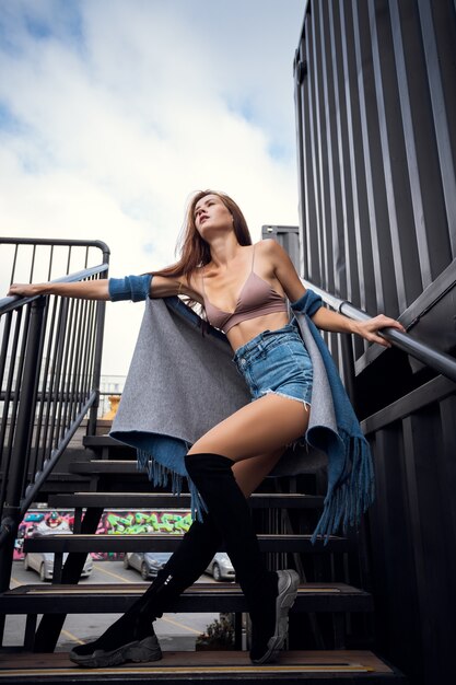
[[[252,237],[247,222],[236,202],[224,193],[217,190],[199,190],[190,199],[186,218],[177,242],[176,254],[180,254],[176,264],[160,271],[152,271],[154,276],[188,276],[197,267],[204,266],[211,260],[209,244],[202,240],[195,224],[195,207],[207,195],[217,195],[229,209],[233,217],[234,233],[239,245],[252,245]]]

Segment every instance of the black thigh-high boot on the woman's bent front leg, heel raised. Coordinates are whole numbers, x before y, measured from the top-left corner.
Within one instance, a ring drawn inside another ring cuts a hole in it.
[[[187,472],[220,529],[253,624],[250,659],[273,661],[287,637],[288,613],[297,592],[295,571],[268,571],[260,554],[248,503],[220,454],[187,454]]]

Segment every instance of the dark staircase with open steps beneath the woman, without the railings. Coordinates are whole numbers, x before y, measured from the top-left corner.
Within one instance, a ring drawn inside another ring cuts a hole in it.
[[[234,613],[234,650],[165,652],[163,661],[153,665],[125,664],[120,669],[90,673],[74,667],[65,654],[52,653],[66,614],[125,612],[143,592],[143,584],[79,585],[77,577],[87,553],[173,550],[179,542],[179,535],[162,533],[94,535],[104,508],[187,509],[189,504],[188,495],[175,497],[168,492],[151,492],[150,483],[145,474],[137,469],[135,454],[129,448],[121,446],[107,436],[91,436],[84,442],[91,458],[70,463],[69,479],[74,475],[86,478],[86,491],[49,494],[47,498],[52,508],[74,509],[74,532],[33,537],[24,543],[25,552],[55,553],[52,584],[22,585],[0,595],[1,613],[27,614],[24,651],[1,654],[0,683],[26,683],[32,678],[38,682],[60,678],[59,682],[78,680],[100,683],[113,677],[120,677],[127,683],[151,677],[167,683],[188,680],[223,683],[241,678],[265,678],[279,683],[303,680],[308,683],[320,680],[339,682],[338,678],[340,682],[356,683],[376,678],[405,682],[397,671],[370,649],[361,649],[366,643],[370,647],[374,645],[371,620],[374,603],[369,592],[348,582],[348,557],[352,542],[334,536],[326,545],[323,542],[312,545],[309,534],[303,533],[309,526],[308,518],[311,521],[315,519],[323,506],[321,495],[315,488],[311,494],[301,492],[299,481],[293,483],[293,489],[297,491],[277,492],[272,479],[268,479],[262,491],[250,498],[259,530],[270,527],[271,520],[281,521],[276,530],[259,534],[260,546],[269,553],[272,565],[277,565],[278,555],[288,565],[297,558],[303,581],[290,616],[290,650],[283,652],[278,664],[254,667],[248,654],[241,650],[241,616],[246,605],[237,584],[233,583],[198,583],[169,606],[169,611]],[[101,456],[104,458],[97,458]],[[314,478],[307,474],[306,481],[311,479]],[[274,516],[274,512],[279,515]],[[268,522],[266,526],[265,521]],[[62,566],[65,553],[70,554]],[[40,614],[43,618],[36,630]],[[363,616],[363,627],[361,631],[358,628],[353,631],[355,619],[360,616]]]

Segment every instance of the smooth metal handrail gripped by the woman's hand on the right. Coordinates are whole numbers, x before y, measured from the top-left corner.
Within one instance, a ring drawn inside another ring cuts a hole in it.
[[[354,306],[348,300],[342,300],[337,298],[336,295],[314,286],[311,281],[306,279],[301,279],[305,288],[308,288],[316,292],[324,302],[329,304],[329,306],[340,314],[352,318],[353,321],[369,321],[372,318],[367,312],[364,310]],[[411,335],[407,333],[401,333],[400,330],[396,330],[395,328],[383,328],[379,335],[391,342],[395,347],[407,352],[411,357],[414,357],[419,361],[422,361],[424,364],[439,371],[449,380],[456,383],[456,359],[442,352],[421,340],[417,340]]]

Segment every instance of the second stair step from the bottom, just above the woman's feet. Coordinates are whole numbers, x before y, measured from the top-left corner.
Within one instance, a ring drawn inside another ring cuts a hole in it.
[[[148,583],[20,585],[0,594],[4,614],[93,614],[124,613],[141,596]],[[246,612],[237,583],[196,583],[188,588],[168,612]],[[369,592],[344,583],[300,585],[293,612],[372,612]]]

